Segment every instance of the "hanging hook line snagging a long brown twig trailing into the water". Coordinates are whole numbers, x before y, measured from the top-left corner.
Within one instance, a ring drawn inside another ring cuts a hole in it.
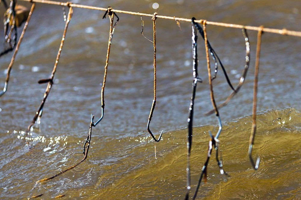
[[[72,11],[71,7],[70,7],[70,9]],[[106,83],[106,78],[107,78],[107,68],[108,68],[108,65],[109,65],[110,48],[111,48],[111,44],[112,44],[113,33],[114,33],[115,27],[116,27],[116,25],[119,21],[119,17],[116,15],[115,12],[113,12],[111,10],[112,10],[112,8],[108,7],[108,9],[107,9],[107,11],[106,11],[106,13],[104,14],[104,17],[103,17],[103,19],[104,19],[104,18],[106,18],[106,15],[108,15],[109,18],[110,18],[110,34],[109,34],[109,41],[108,41],[106,65],[104,67],[104,81],[103,81],[103,84],[102,84],[102,87],[101,87],[101,117],[99,118],[99,120],[97,122],[94,123],[94,115],[92,116],[92,114],[91,114],[91,122],[90,122],[90,126],[89,126],[88,136],[87,136],[87,139],[86,139],[86,141],[83,145],[84,158],[80,162],[76,163],[75,165],[72,165],[71,167],[65,169],[64,171],[60,171],[58,174],[55,174],[54,176],[38,180],[36,182],[35,186],[33,187],[33,189],[36,187],[36,185],[38,183],[54,179],[55,177],[57,177],[61,174],[64,174],[66,171],[69,171],[70,169],[75,168],[77,165],[82,163],[88,157],[88,151],[89,151],[90,142],[91,142],[91,135],[92,135],[92,127],[93,126],[95,127],[104,117],[104,88],[105,88],[105,83]],[[115,24],[113,25],[114,15],[117,17],[117,20],[116,20]],[[68,21],[68,19],[69,19],[69,15],[68,15],[67,21]],[[86,146],[86,144],[88,144],[88,145]]]

